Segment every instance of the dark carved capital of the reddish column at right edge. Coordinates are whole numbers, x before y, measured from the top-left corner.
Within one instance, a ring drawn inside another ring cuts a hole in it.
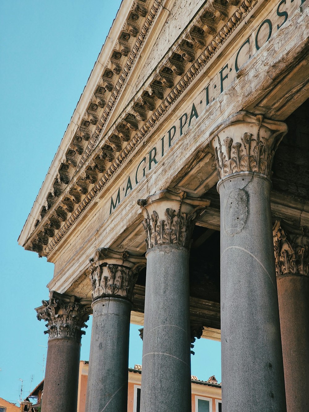
[[[276,275],[309,276],[309,231],[277,220],[273,227]]]

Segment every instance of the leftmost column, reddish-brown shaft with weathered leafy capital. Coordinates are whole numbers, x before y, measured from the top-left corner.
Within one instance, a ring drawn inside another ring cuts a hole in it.
[[[47,322],[48,346],[42,412],[76,412],[80,341],[89,319],[90,305],[75,296],[51,292],[36,308],[37,318]]]

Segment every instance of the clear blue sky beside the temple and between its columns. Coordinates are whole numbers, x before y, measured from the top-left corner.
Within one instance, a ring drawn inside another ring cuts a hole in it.
[[[120,1],[2,0],[0,397],[16,401],[42,379],[47,337],[34,308],[48,299],[53,264],[17,239],[66,131]],[[82,338],[89,359],[91,320]],[[200,339],[192,375],[220,382],[220,343]],[[142,341],[131,325],[129,366],[141,362]]]

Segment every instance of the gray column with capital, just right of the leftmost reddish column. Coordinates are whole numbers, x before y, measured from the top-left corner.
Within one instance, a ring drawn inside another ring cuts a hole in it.
[[[126,412],[131,302],[145,258],[101,248],[90,263],[93,321],[86,412]]]

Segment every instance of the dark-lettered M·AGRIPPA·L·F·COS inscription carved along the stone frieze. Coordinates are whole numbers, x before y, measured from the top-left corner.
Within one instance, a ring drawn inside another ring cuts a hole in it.
[[[211,76],[208,84],[201,85],[202,89],[194,103],[183,112],[178,121],[171,126],[164,136],[144,155],[138,165],[127,175],[126,183],[117,188],[110,198],[110,214],[118,204],[140,183],[147,172],[155,168],[160,160],[176,143],[178,138],[184,135],[188,129],[197,121],[199,115],[211,106],[218,96],[237,79],[237,73],[276,31],[284,26],[284,23],[295,12],[300,12],[306,0],[280,0],[272,11],[267,15],[267,19],[257,21],[255,29],[246,36],[246,40],[240,47],[224,61],[221,69]],[[224,55],[223,55],[224,59]],[[201,142],[200,142],[201,143]]]

